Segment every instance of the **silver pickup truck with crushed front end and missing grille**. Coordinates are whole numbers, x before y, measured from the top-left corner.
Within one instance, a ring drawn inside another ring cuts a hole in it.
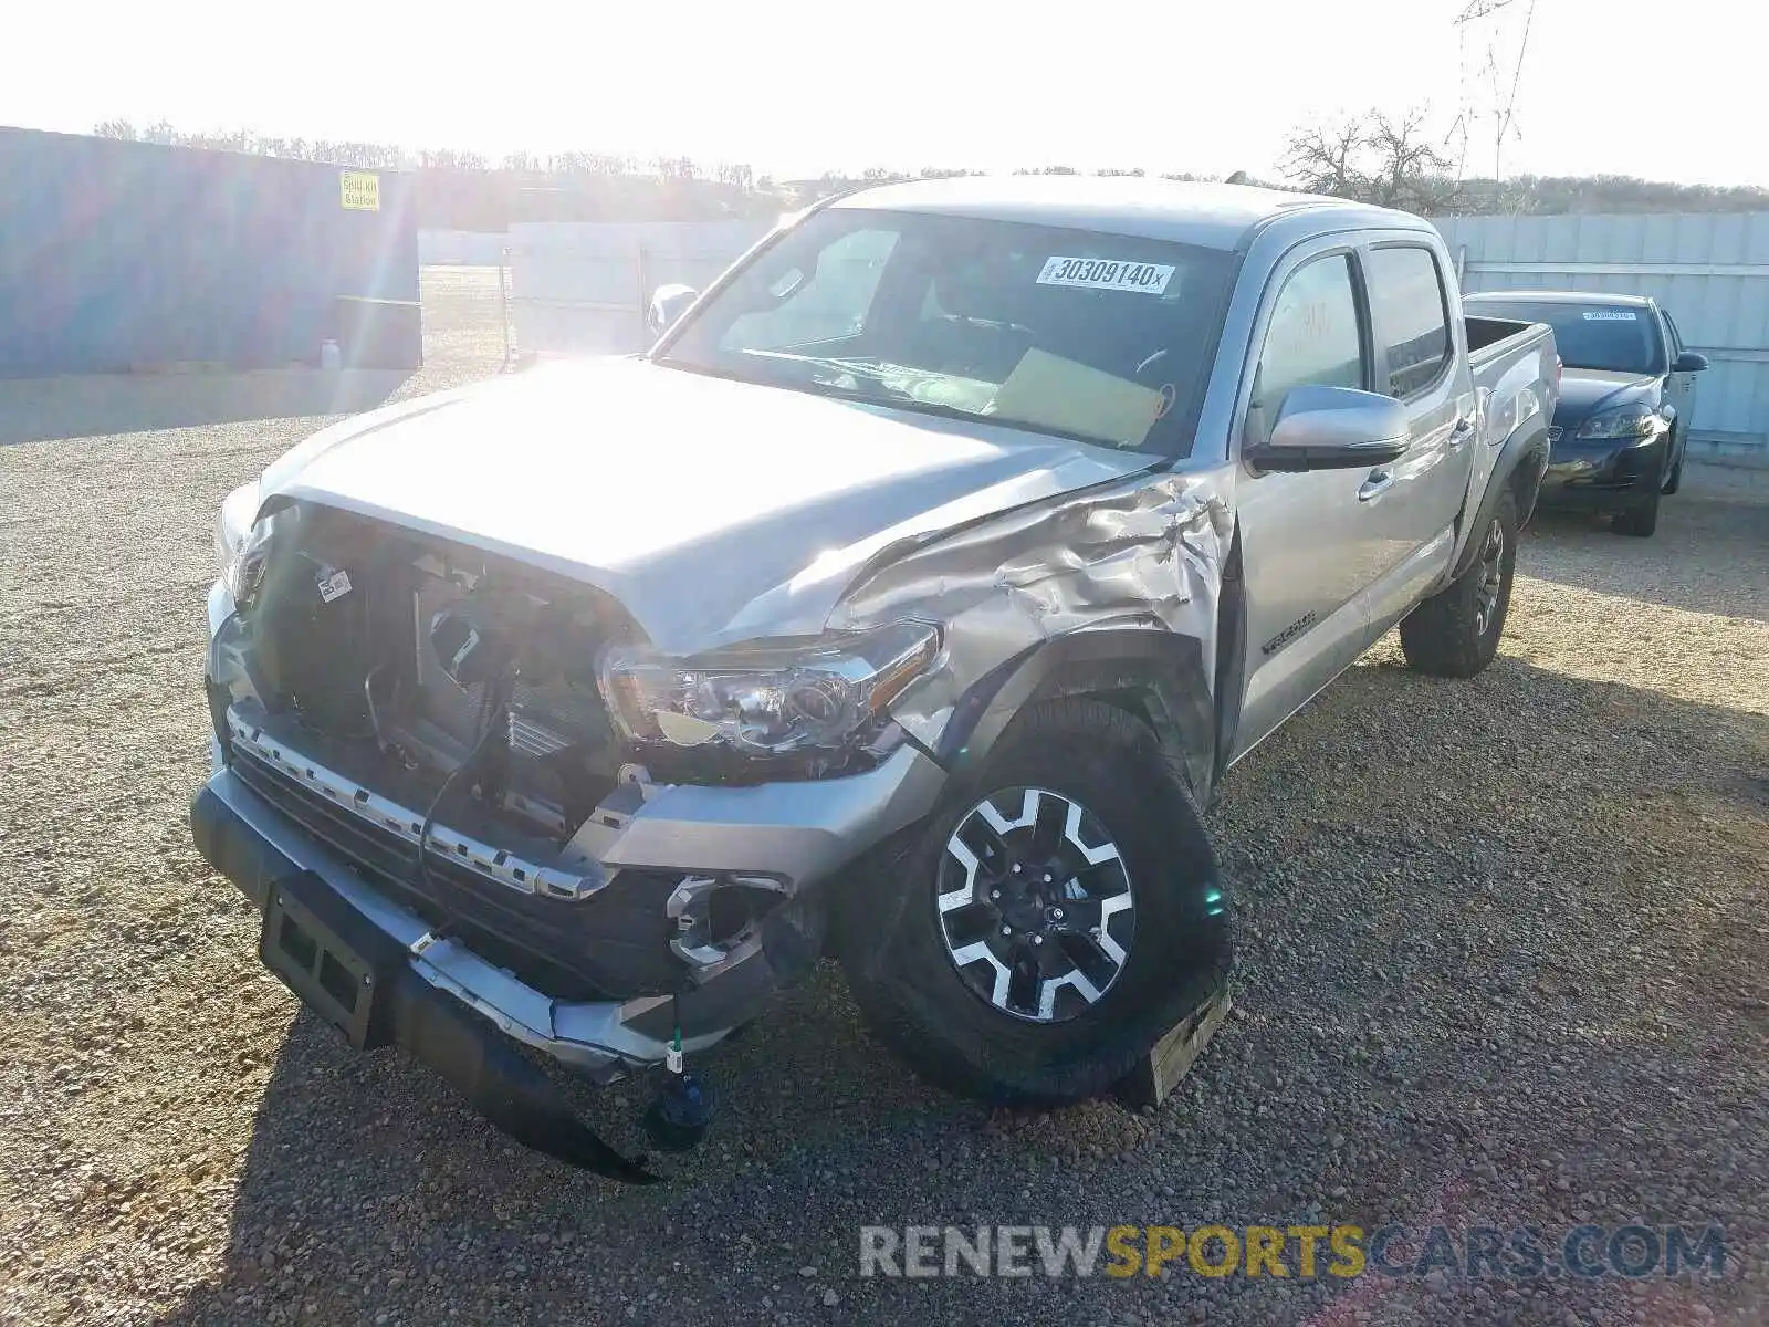
[[[1107,1090],[1228,971],[1224,771],[1396,625],[1493,658],[1558,363],[1413,216],[884,186],[655,308],[297,446],[209,596],[264,963],[573,1164],[651,1175],[534,1053],[686,1083],[823,955],[936,1083]]]

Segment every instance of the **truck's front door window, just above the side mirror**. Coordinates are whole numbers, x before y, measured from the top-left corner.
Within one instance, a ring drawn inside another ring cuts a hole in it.
[[[1277,295],[1254,380],[1261,437],[1277,421],[1284,396],[1302,386],[1364,386],[1357,287],[1343,253],[1298,267]]]

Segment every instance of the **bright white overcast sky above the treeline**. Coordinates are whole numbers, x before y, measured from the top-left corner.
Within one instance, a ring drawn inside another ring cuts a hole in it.
[[[1523,12],[1467,0],[416,5],[19,4],[0,124],[99,120],[405,147],[747,163],[782,179],[1141,166],[1272,179],[1298,124],[1491,103]],[[267,14],[274,12],[274,18]],[[1502,170],[1769,184],[1760,5],[1535,0]],[[1489,122],[1468,173],[1491,173]]]

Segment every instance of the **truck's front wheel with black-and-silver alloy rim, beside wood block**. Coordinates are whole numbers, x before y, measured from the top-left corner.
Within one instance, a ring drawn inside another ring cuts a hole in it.
[[[968,791],[849,881],[839,952],[872,1033],[936,1086],[1065,1106],[1122,1081],[1228,977],[1215,856],[1137,718],[1021,715]]]

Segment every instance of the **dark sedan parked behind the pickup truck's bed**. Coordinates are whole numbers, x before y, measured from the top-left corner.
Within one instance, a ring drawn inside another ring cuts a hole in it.
[[[1677,324],[1645,295],[1495,290],[1463,306],[1553,327],[1564,372],[1541,504],[1613,511],[1617,533],[1650,534],[1659,497],[1682,481],[1707,359],[1682,349]]]

